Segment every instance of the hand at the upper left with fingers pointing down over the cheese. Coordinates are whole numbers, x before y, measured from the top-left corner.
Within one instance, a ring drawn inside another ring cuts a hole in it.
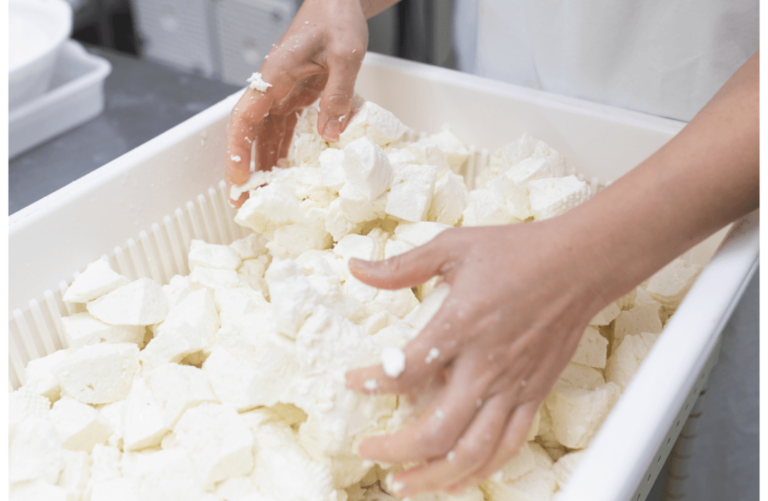
[[[272,86],[265,92],[249,87],[232,110],[227,190],[248,180],[253,141],[258,170],[287,156],[297,112],[321,93],[318,132],[326,141],[338,140],[351,116],[355,79],[368,47],[368,13],[360,0],[304,2],[259,69]],[[231,202],[239,207],[247,198],[244,193]]]

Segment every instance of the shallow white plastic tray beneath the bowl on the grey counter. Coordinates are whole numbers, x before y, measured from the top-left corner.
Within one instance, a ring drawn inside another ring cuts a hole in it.
[[[51,89],[8,113],[8,156],[14,158],[104,110],[104,80],[112,65],[72,40],[61,48]]]

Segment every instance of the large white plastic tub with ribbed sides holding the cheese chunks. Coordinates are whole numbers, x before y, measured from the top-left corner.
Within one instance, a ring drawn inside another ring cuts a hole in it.
[[[579,172],[615,179],[682,123],[368,54],[358,92],[416,130],[450,123],[491,151],[528,132]],[[224,130],[238,95],[23,209],[10,219],[11,386],[62,347],[61,302],[73,274],[105,256],[130,278],[186,273],[190,238],[229,242],[221,181]],[[482,169],[476,152],[468,176]],[[726,235],[727,232],[727,235]],[[720,249],[715,254],[718,246]],[[712,257],[714,255],[714,257]],[[716,360],[719,335],[758,258],[751,214],[691,251],[709,265],[589,447],[560,501],[644,499]]]

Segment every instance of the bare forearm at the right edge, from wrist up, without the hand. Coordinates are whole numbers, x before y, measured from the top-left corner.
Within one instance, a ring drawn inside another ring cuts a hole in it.
[[[759,205],[759,53],[663,148],[564,217],[614,299]]]

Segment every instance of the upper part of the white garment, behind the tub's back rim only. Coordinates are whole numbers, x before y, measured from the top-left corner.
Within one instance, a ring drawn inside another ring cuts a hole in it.
[[[756,0],[456,0],[462,71],[690,120],[758,50]]]

